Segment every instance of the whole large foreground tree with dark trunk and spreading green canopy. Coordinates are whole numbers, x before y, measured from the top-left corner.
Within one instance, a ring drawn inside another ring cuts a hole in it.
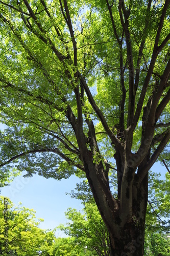
[[[0,5],[4,172],[85,174],[112,254],[142,255],[148,171],[170,138],[169,0]]]

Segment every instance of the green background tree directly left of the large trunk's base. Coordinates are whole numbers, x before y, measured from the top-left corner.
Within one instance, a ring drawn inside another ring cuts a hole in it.
[[[100,216],[99,210],[93,203],[86,203],[83,208],[84,214],[76,209],[69,208],[65,213],[69,222],[60,225],[59,228],[71,238],[75,238],[75,245],[91,251],[91,255],[108,256],[109,234]]]

